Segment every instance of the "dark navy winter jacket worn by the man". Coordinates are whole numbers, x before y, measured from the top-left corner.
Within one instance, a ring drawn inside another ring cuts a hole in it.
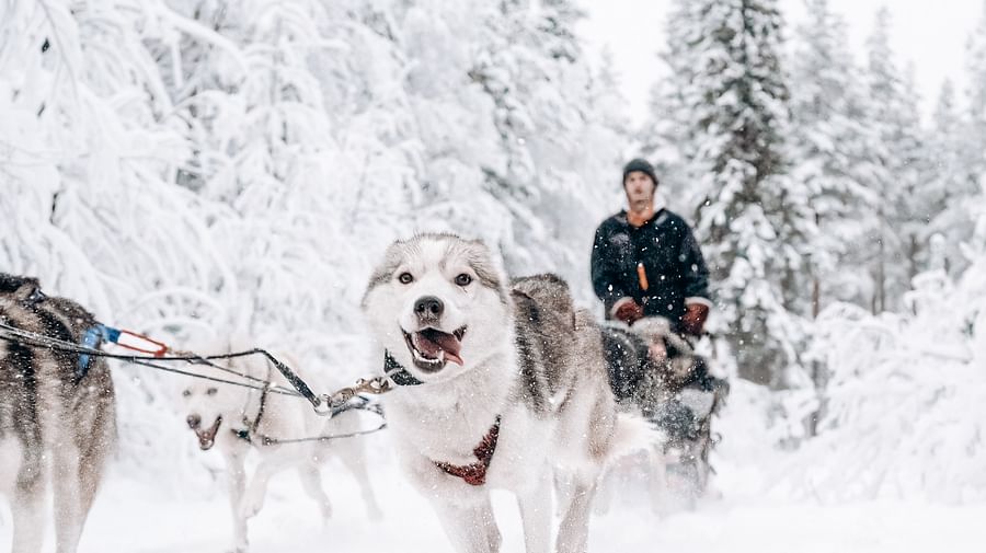
[[[647,290],[641,287],[638,264],[643,264]],[[607,319],[623,298],[632,298],[645,316],[664,316],[677,331],[691,302],[711,306],[709,270],[688,223],[661,209],[640,228],[627,221],[627,211],[596,229],[592,257],[593,288],[603,300]]]

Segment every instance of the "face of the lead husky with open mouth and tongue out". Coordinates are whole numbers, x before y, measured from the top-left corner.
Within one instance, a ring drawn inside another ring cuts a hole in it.
[[[390,355],[423,381],[454,378],[511,339],[506,278],[479,241],[422,234],[387,250],[363,309]]]

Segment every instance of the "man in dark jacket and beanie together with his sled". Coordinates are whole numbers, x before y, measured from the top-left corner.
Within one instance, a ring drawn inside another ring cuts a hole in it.
[[[665,430],[672,468],[698,495],[710,470],[711,417],[729,384],[695,354],[712,307],[709,270],[688,223],[655,205],[657,184],[645,160],[623,168],[628,209],[596,230],[593,288],[614,321],[603,336],[617,399]]]

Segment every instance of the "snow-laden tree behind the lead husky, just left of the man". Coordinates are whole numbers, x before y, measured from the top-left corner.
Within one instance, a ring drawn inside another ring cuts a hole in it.
[[[513,235],[502,242],[508,267],[555,270],[583,285],[593,228],[575,221],[607,215],[606,198],[619,188],[606,183],[618,174],[627,138],[589,111],[599,87],[612,83],[592,79],[572,31],[581,12],[567,0],[535,5],[504,1],[473,10],[480,41],[468,74],[492,101],[498,134],[498,155],[480,166],[484,191],[508,209]],[[589,146],[593,154],[585,155]]]

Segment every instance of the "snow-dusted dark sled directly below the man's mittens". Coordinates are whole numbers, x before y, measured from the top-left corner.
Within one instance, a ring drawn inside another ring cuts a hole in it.
[[[719,439],[712,418],[729,395],[729,382],[710,373],[709,360],[663,319],[632,327],[604,323],[603,343],[618,403],[663,431],[666,439],[655,448],[663,457],[665,487],[693,508],[713,472],[709,453]]]

